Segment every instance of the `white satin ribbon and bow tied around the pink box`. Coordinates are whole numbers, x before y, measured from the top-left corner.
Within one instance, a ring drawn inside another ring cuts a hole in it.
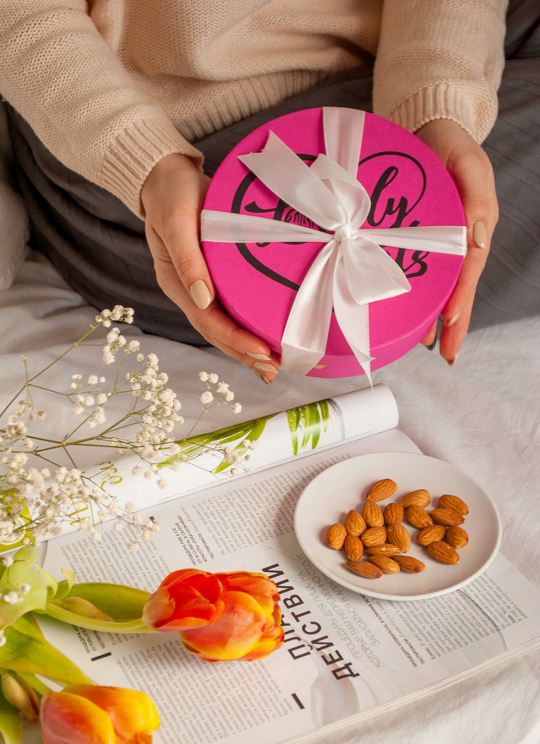
[[[356,359],[371,382],[369,303],[411,291],[383,246],[466,254],[466,228],[363,228],[370,197],[356,180],[364,112],[323,109],[324,145],[307,166],[269,133],[261,153],[239,159],[283,202],[332,234],[275,219],[205,209],[201,239],[211,243],[325,243],[300,284],[281,338],[281,368],[306,374],[323,358],[332,307]]]

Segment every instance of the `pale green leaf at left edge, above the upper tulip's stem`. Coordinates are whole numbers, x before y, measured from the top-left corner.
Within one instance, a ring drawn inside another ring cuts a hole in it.
[[[10,604],[0,601],[0,628],[5,628],[33,609],[45,609],[47,584],[35,570],[36,565],[36,548],[26,545],[14,554],[13,564],[4,569],[0,577],[0,595],[17,590],[23,584],[28,584],[30,589],[19,602]]]

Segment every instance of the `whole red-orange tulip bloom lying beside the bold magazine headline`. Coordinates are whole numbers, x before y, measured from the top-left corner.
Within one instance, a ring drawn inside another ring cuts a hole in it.
[[[200,596],[194,596],[195,587]],[[207,589],[212,594],[205,596]],[[144,606],[143,620],[158,630],[179,631],[184,647],[206,661],[254,661],[283,644],[279,598],[275,584],[263,574],[187,569],[161,583]],[[207,612],[208,620],[202,622],[208,604],[215,610],[213,619]]]

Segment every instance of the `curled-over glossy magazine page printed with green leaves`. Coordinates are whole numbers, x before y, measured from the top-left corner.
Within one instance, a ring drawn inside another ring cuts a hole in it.
[[[246,450],[245,440],[255,443],[256,448],[249,450],[248,469],[251,473],[300,458],[314,449],[323,451],[338,442],[391,430],[397,426],[398,420],[396,400],[390,388],[375,385],[373,389],[363,388],[333,399],[307,403],[179,441],[180,451],[166,458],[160,464],[159,476],[151,480],[132,474],[140,462],[133,455],[120,458],[115,464],[101,463],[88,475],[94,484],[115,498],[118,507],[131,502],[137,511],[245,475],[246,466],[237,467],[238,475],[234,475],[234,464],[226,461],[223,453],[216,449],[218,447],[227,446],[242,455]],[[172,464],[179,462],[178,470],[171,469]],[[62,522],[62,533],[77,530],[81,519],[91,517],[91,505],[75,503],[70,516],[73,517],[71,522]],[[21,519],[30,522],[31,509],[27,509]],[[109,519],[114,519],[114,516]],[[0,545],[0,553],[15,547],[17,545],[7,542]]]

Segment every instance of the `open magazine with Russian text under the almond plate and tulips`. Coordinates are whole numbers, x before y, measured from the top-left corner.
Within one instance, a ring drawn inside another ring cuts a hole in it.
[[[147,482],[117,464],[118,498],[161,523],[152,542],[129,551],[109,523],[100,543],[71,533],[46,546],[52,574],[71,568],[78,581],[147,591],[190,566],[266,574],[279,588],[286,632],[269,658],[208,664],[176,636],[69,635],[48,618],[45,635],[90,677],[150,694],[161,716],[156,744],[307,741],[538,647],[540,594],[501,555],[463,589],[414,602],[344,589],[303,555],[293,529],[303,488],[356,455],[420,452],[397,423],[393,395],[377,385],[243,425],[257,436],[240,434],[231,446],[245,437],[259,446],[239,477],[221,462],[186,464],[167,472],[167,492],[145,493]]]

